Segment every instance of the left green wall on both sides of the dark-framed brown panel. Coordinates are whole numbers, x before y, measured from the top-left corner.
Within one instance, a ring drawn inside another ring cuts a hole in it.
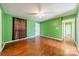
[[[2,9],[2,6],[0,5]],[[20,17],[17,17],[20,18]],[[27,37],[35,35],[35,21],[27,19]],[[13,15],[7,14],[2,9],[2,45],[12,41],[13,34]]]

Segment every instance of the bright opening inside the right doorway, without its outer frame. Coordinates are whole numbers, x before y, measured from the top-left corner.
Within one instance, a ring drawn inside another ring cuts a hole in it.
[[[74,36],[73,36],[73,25],[72,25],[72,22],[66,22],[63,24],[64,25],[64,32],[63,32],[63,39],[64,39],[64,42],[67,43],[67,44],[72,44],[74,45]]]

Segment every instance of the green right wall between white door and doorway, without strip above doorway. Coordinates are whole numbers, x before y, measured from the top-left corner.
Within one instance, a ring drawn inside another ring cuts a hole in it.
[[[41,35],[61,38],[61,18],[51,19],[41,23]]]

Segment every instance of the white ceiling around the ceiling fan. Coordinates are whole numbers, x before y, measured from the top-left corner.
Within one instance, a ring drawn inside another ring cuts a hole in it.
[[[70,15],[76,12],[75,3],[3,3],[3,10],[13,16],[29,18],[35,21],[45,21],[49,18]],[[45,15],[42,18],[29,13],[41,13]]]

